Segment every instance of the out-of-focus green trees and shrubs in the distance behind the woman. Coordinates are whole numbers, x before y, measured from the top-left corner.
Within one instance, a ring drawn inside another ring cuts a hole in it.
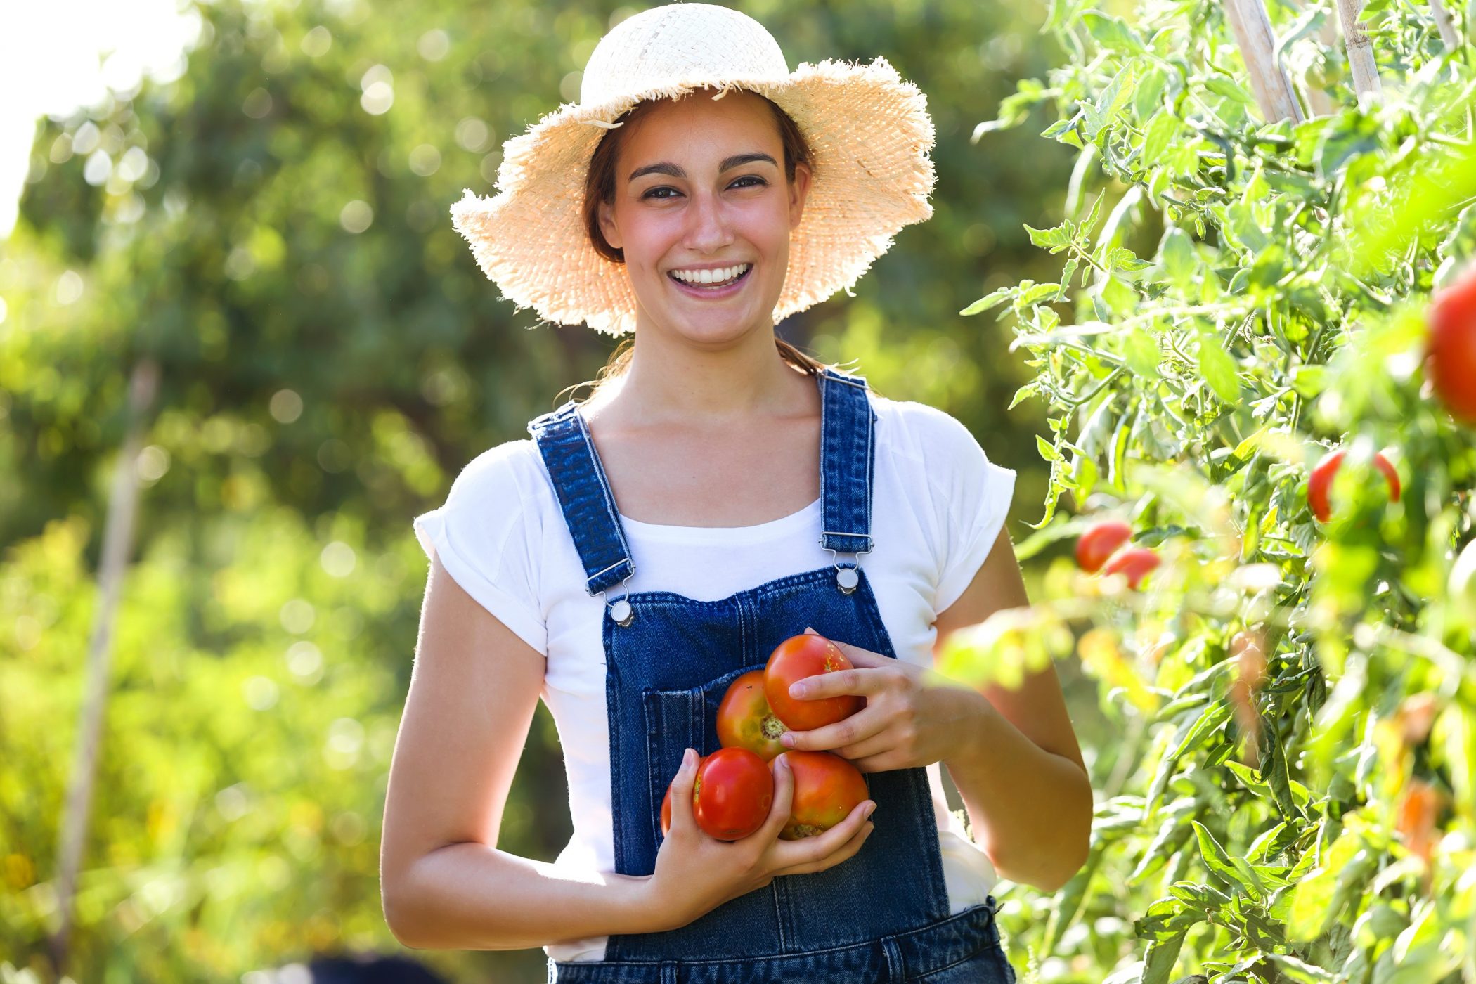
[[[874,387],[956,415],[1038,516],[1042,410],[973,298],[1045,276],[1072,153],[970,142],[1052,62],[1044,12],[734,4],[801,60],[886,56],[928,96],[936,214],[781,325]],[[455,233],[500,145],[573,102],[614,3],[223,0],[183,77],[35,133],[0,242],[0,952],[44,975],[55,851],[130,367],[159,363],[77,898],[78,980],[226,980],[394,949],[378,831],[425,558],[410,531],[481,450],[525,435],[614,339],[512,313]],[[1091,699],[1085,702],[1089,713]],[[1083,744],[1091,744],[1083,736]],[[475,754],[475,749],[466,749]],[[540,708],[500,847],[570,832]],[[427,954],[542,980],[539,952]]]

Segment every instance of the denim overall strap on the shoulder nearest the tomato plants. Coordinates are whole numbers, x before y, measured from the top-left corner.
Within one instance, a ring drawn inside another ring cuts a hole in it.
[[[871,550],[871,474],[877,415],[863,376],[827,367],[821,387],[821,546],[835,553]]]

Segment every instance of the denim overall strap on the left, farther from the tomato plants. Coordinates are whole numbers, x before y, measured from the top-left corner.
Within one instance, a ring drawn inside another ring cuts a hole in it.
[[[620,528],[615,496],[610,491],[610,481],[579,406],[571,400],[558,410],[534,417],[528,422],[528,434],[554,479],[564,522],[584,565],[586,590],[598,595],[629,578],[636,572],[630,546]]]

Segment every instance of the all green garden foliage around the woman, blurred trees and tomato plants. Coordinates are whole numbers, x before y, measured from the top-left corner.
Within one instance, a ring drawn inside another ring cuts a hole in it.
[[[1427,298],[1476,252],[1467,6],[1367,4],[1383,89],[1359,97],[1336,4],[1271,1],[1300,121],[1268,117],[1221,3],[734,6],[791,68],[884,55],[937,125],[933,218],[779,332],[1018,472],[1039,606],[953,668],[1057,659],[1098,789],[1077,879],[996,891],[1020,978],[1476,984],[1476,429],[1420,361]],[[0,240],[6,984],[56,980],[133,429],[68,974],[260,983],[407,953],[376,869],[427,575],[410,519],[614,345],[499,301],[449,208],[635,7],[196,12],[180,78],[38,122]],[[156,389],[130,412],[139,366]],[[1328,527],[1306,477],[1345,441]],[[1401,502],[1356,481],[1374,448]],[[1076,571],[1094,513],[1160,552],[1147,590]],[[540,707],[499,847],[552,860],[568,832]],[[537,950],[410,956],[543,980]]]

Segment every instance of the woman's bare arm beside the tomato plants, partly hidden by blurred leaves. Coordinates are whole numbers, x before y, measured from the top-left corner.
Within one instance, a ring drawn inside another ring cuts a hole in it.
[[[1001,528],[974,580],[934,621],[934,656],[951,631],[1024,605],[1020,564]],[[967,696],[983,698],[973,699],[976,723],[943,764],[974,839],[1002,876],[1057,891],[1086,863],[1094,807],[1055,664],[1026,676],[1018,690],[987,686]]]

